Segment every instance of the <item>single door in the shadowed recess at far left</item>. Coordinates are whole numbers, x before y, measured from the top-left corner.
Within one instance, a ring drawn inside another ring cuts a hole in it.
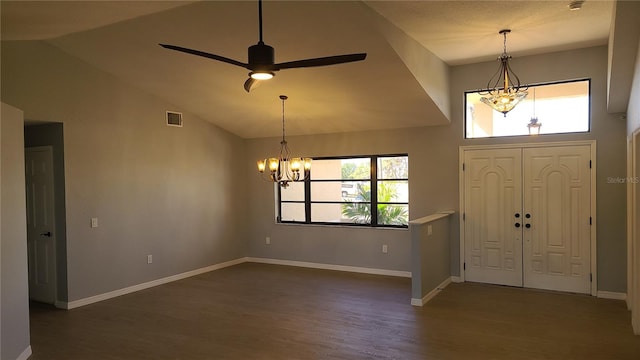
[[[56,253],[51,147],[25,149],[29,298],[56,301]]]

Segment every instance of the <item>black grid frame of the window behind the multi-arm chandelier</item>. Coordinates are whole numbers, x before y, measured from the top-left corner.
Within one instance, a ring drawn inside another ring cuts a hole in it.
[[[282,187],[277,186],[276,193],[276,222],[279,224],[305,224],[305,225],[322,225],[322,226],[348,226],[348,227],[367,227],[367,228],[399,228],[399,229],[407,229],[409,227],[408,221],[406,225],[389,225],[389,224],[378,224],[378,205],[406,205],[407,211],[409,210],[409,198],[407,197],[407,202],[386,202],[386,201],[378,201],[378,182],[379,181],[406,181],[407,187],[409,186],[409,175],[407,171],[407,178],[382,178],[378,179],[378,159],[379,158],[390,158],[390,157],[406,157],[407,158],[407,166],[409,165],[409,154],[408,153],[399,153],[399,154],[377,154],[377,155],[354,155],[354,156],[323,156],[323,157],[313,157],[312,160],[345,160],[345,159],[369,159],[370,160],[370,168],[369,168],[369,178],[367,179],[311,179],[311,174],[313,172],[313,166],[311,166],[311,170],[309,172],[309,176],[305,179],[300,180],[298,182],[304,183],[304,200],[282,200]],[[361,223],[353,223],[353,222],[326,222],[326,221],[311,221],[311,205],[312,204],[344,204],[344,201],[313,201],[311,199],[311,183],[321,183],[321,182],[344,182],[344,181],[353,181],[353,182],[368,182],[370,185],[370,193],[371,193],[371,202],[358,202],[363,204],[370,204],[371,206],[371,223],[370,224],[361,224]],[[282,220],[282,204],[304,204],[305,211],[305,221],[293,221],[293,220]],[[375,210],[375,211],[374,211]],[[407,219],[408,220],[408,219]]]

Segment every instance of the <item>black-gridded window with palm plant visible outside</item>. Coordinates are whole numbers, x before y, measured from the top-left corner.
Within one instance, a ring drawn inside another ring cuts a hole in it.
[[[309,178],[278,187],[278,209],[282,223],[407,227],[409,157],[314,158]]]

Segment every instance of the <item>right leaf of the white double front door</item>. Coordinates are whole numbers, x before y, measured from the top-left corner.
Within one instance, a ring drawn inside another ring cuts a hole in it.
[[[591,291],[589,146],[529,148],[524,166],[524,286]]]

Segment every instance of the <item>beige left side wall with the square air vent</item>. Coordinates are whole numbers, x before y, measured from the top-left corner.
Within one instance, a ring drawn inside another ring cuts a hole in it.
[[[69,301],[244,256],[242,139],[42,42],[2,43],[2,97],[64,124]]]

